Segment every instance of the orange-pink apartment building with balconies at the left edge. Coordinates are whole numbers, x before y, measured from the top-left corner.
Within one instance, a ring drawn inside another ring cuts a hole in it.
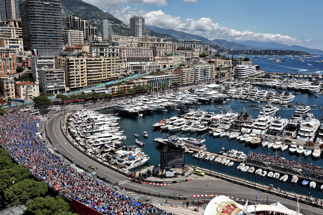
[[[15,74],[16,68],[16,52],[0,49],[0,76]]]

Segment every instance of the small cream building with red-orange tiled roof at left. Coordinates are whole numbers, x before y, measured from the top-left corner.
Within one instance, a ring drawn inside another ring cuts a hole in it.
[[[30,101],[39,96],[39,84],[28,81],[16,82],[16,98]]]

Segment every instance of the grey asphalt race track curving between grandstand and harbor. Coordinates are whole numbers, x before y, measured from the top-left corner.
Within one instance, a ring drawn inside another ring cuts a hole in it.
[[[129,178],[119,174],[109,168],[89,159],[86,155],[79,152],[77,149],[74,148],[64,137],[60,130],[60,120],[62,118],[63,112],[59,112],[54,114],[47,123],[47,134],[51,137],[54,147],[57,151],[63,152],[65,156],[68,156],[69,159],[75,161],[75,163],[79,164],[79,166],[84,166],[87,168],[89,165],[93,165],[98,168],[96,170],[97,175],[105,176],[107,180],[111,182],[122,182],[124,187],[131,188],[133,190],[143,191],[143,192],[150,192],[155,194],[161,195],[170,195],[170,196],[182,196],[187,197],[188,200],[197,200],[198,198],[190,197],[191,195],[226,195],[226,196],[234,196],[236,198],[241,199],[249,199],[250,202],[255,201],[255,190],[251,188],[247,188],[242,185],[234,184],[228,181],[220,180],[217,178],[209,177],[209,176],[197,176],[191,175],[190,178],[193,178],[193,181],[188,182],[181,182],[176,184],[170,185],[151,185],[147,183],[138,184],[130,182]],[[182,179],[182,177],[178,178],[177,180]],[[175,179],[174,179],[175,180]],[[127,193],[130,195],[131,193]],[[154,198],[154,197],[152,197]],[[258,202],[262,204],[275,203],[279,201],[287,208],[291,208],[296,210],[297,202],[288,200],[282,197],[278,197],[275,195],[267,194],[258,192]],[[160,198],[156,198],[160,199]],[[204,199],[204,198],[201,198]],[[165,200],[165,199],[160,199]],[[180,200],[168,200],[168,202],[183,202]],[[314,208],[312,206],[308,206],[306,204],[299,204],[301,208],[301,212],[307,214],[322,214],[323,210],[319,208]]]

